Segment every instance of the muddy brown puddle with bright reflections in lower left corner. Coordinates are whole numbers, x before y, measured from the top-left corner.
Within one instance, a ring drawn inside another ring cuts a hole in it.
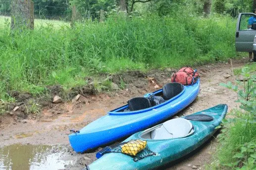
[[[59,170],[73,161],[62,160],[60,146],[14,144],[0,148],[0,170]]]

